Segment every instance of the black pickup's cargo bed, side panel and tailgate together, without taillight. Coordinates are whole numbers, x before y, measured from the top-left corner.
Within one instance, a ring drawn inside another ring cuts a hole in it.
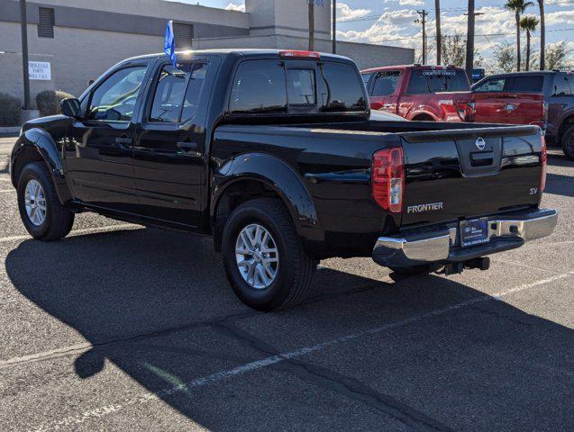
[[[482,150],[478,138],[484,139]],[[250,151],[270,151],[296,169],[337,249],[365,246],[380,232],[535,207],[542,195],[542,142],[535,126],[349,121],[225,125],[215,132],[215,146],[228,157],[246,141]],[[383,211],[371,196],[372,156],[393,146],[405,155],[400,214]]]

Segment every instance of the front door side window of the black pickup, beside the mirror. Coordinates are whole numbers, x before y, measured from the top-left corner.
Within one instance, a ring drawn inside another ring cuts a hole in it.
[[[131,121],[147,67],[120,69],[98,85],[88,103],[86,119]]]

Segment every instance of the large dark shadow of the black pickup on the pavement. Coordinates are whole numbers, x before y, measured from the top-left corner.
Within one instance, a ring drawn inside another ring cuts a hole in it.
[[[211,430],[571,426],[572,331],[442,277],[324,268],[305,304],[264,314],[236,300],[210,240],[150,229],[24,241],[6,268],[91,344],[74,368],[92,379],[69,384],[80,412],[109,361],[150,392],[123,396],[123,377],[110,416],[160,417],[160,400]],[[42,334],[43,349],[66,345]]]

